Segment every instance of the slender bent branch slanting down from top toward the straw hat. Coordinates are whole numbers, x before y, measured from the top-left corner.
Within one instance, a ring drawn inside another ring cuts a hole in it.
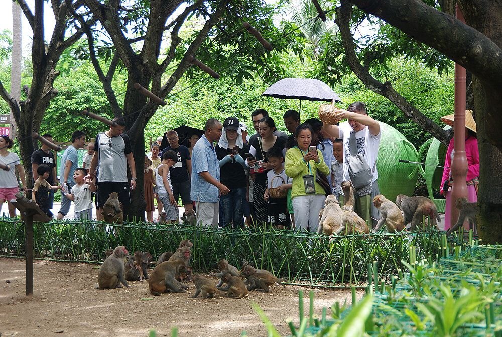
[[[406,117],[420,125],[424,130],[429,131],[441,143],[448,146],[450,138],[445,130],[440,128],[436,123],[434,123],[434,121],[410,104],[406,98],[394,90],[389,81],[382,83],[376,80],[371,76],[367,67],[363,67],[359,63],[357,55],[355,54],[355,45],[352,40],[352,34],[350,32],[351,15],[352,3],[342,1],[341,6],[336,9],[335,23],[340,29],[343,48],[345,50],[345,59],[347,60],[350,69],[362,81],[362,83],[364,83],[366,88],[390,100],[404,113]]]

